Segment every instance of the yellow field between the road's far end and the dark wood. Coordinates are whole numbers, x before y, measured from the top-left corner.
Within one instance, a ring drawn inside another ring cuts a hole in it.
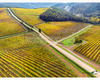
[[[39,23],[43,23],[41,19],[39,19],[39,15],[45,12],[48,8],[39,8],[39,9],[23,9],[23,8],[12,8],[13,12],[27,22],[30,25],[35,25]]]

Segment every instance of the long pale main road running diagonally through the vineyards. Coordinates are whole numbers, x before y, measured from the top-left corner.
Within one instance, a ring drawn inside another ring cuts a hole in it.
[[[17,19],[19,22],[21,22],[20,19],[18,19],[12,12],[11,10],[8,8],[9,12],[12,14],[12,16]],[[26,25],[27,27],[31,28],[29,25],[27,25],[26,23],[23,23],[24,25]],[[54,48],[56,48],[58,51],[60,51],[62,54],[66,55],[68,58],[70,58],[72,61],[74,61],[75,63],[77,63],[78,65],[80,65],[82,68],[86,69],[89,72],[95,71],[94,68],[90,67],[89,65],[87,65],[86,63],[82,62],[81,60],[77,59],[76,57],[74,57],[73,55],[71,55],[70,53],[68,53],[67,51],[63,50],[62,48],[58,47],[56,44],[54,44],[52,41],[50,41],[47,37],[45,37],[43,34],[39,33],[37,30],[35,30],[34,28],[31,28],[32,30],[34,30],[35,32],[37,32],[40,37],[42,39],[44,39],[46,42],[48,42],[51,46],[53,46]],[[98,74],[100,77],[100,73]],[[95,75],[98,77],[98,75]]]

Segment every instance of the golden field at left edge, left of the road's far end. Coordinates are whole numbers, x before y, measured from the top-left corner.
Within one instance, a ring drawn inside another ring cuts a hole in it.
[[[24,29],[8,15],[6,8],[0,8],[0,37],[23,31]]]

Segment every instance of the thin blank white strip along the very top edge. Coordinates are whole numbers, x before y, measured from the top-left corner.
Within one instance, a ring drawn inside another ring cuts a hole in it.
[[[0,2],[100,2],[99,0],[0,0]]]

